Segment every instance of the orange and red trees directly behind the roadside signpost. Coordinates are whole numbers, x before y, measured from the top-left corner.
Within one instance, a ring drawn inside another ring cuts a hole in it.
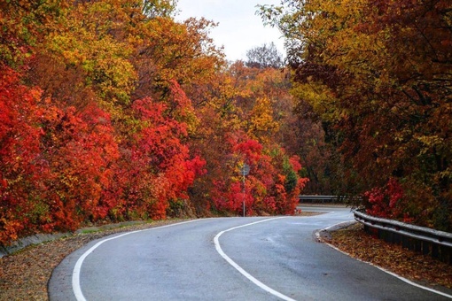
[[[191,143],[206,158],[207,174],[191,191],[211,198],[211,210],[242,214],[245,200],[246,214],[293,212],[306,179],[292,166],[294,153],[282,148],[290,143],[281,129],[292,117],[288,83],[280,70],[238,61],[210,85],[212,97],[197,110],[202,130]],[[245,194],[244,164],[251,166]]]

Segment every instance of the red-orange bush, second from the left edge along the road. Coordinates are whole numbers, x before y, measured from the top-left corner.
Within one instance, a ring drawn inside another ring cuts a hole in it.
[[[115,205],[105,194],[113,185],[113,165],[119,157],[109,115],[91,104],[43,111],[43,160],[50,169],[46,181],[55,227],[74,229],[83,220],[105,218]]]

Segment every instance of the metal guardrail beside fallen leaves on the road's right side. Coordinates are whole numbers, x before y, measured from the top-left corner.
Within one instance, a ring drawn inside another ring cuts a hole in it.
[[[376,218],[354,211],[355,220],[364,229],[389,243],[398,243],[413,251],[430,254],[452,264],[452,234],[431,228],[418,227],[397,220]]]

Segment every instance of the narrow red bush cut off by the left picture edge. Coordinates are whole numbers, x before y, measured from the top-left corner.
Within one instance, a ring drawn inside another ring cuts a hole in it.
[[[19,74],[0,68],[0,243],[33,232],[45,220],[39,139],[35,112],[40,92],[19,82]]]

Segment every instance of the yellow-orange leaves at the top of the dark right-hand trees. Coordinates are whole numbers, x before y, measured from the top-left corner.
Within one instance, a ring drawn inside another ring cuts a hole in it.
[[[323,13],[310,22],[308,40],[322,45],[326,63],[364,76],[379,70],[384,39],[368,29],[367,1],[310,1],[310,6]]]

